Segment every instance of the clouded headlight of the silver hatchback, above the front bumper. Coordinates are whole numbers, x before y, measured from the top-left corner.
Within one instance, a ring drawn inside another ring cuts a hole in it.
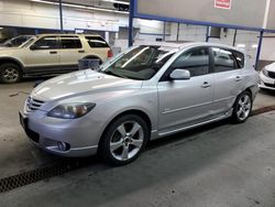
[[[95,107],[94,102],[59,105],[52,109],[47,116],[59,119],[76,119],[87,115]]]

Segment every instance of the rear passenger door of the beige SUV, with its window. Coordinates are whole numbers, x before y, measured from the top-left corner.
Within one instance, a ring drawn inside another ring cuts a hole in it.
[[[77,35],[61,35],[61,65],[67,68],[77,68],[78,59],[85,53]]]

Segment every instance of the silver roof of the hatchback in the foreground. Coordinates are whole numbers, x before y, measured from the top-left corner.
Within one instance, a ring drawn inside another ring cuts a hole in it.
[[[147,45],[147,46],[162,46],[165,48],[170,50],[180,50],[184,47],[191,47],[191,46],[217,46],[217,47],[226,47],[229,50],[234,50],[241,53],[245,53],[245,50],[234,47],[227,44],[220,44],[220,43],[206,43],[206,42],[188,42],[188,43],[174,43],[174,42],[152,42],[148,44],[138,44],[138,45]]]

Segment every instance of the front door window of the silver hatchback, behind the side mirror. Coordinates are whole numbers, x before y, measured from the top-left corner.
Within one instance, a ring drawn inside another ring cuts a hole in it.
[[[170,67],[172,69],[187,69],[191,77],[206,75],[209,73],[209,50],[199,47],[187,51]]]

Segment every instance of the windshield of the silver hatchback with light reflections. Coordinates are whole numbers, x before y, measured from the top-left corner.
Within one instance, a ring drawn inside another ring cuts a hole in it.
[[[123,78],[145,80],[152,78],[175,54],[170,47],[138,46],[110,61],[101,69]]]

